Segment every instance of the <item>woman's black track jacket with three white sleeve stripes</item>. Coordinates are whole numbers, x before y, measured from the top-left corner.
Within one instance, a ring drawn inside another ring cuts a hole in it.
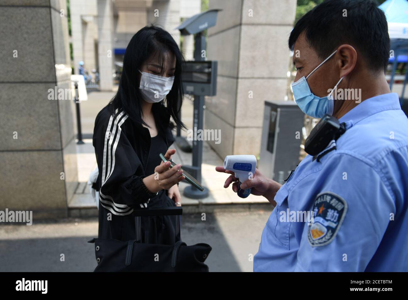
[[[169,126],[170,116],[160,122],[164,122],[168,128],[166,144],[169,148],[174,141]],[[149,205],[150,196],[142,188],[140,176],[150,175],[144,174],[150,143],[149,129],[133,122],[124,111],[117,110],[115,115],[111,115],[109,106],[106,106],[98,113],[93,146],[99,170],[99,238],[135,238],[135,220],[129,205],[137,204],[141,208]],[[168,201],[167,191],[164,190],[159,192],[157,198],[159,202],[166,203],[164,205],[173,203]]]

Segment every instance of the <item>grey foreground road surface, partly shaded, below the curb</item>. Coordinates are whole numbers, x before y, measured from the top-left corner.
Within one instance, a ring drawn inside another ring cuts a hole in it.
[[[210,271],[252,271],[262,229],[270,210],[186,214],[181,236],[187,245],[207,243]],[[0,272],[93,271],[97,218],[67,218],[26,225],[0,226]],[[64,261],[60,260],[64,254]]]

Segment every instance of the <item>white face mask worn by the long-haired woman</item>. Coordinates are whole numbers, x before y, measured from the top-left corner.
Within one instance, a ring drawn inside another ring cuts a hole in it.
[[[139,70],[140,72],[140,70]],[[174,82],[174,76],[162,77],[146,72],[140,72],[140,90],[144,95],[144,100],[149,103],[160,102],[171,91]]]

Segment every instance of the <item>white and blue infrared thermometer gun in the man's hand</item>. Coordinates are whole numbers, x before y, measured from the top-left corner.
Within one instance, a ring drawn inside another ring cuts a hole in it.
[[[251,188],[243,190],[239,186],[242,182],[252,179],[256,169],[256,157],[254,155],[227,155],[224,159],[224,169],[235,172],[238,178],[238,196],[246,198],[251,194]]]

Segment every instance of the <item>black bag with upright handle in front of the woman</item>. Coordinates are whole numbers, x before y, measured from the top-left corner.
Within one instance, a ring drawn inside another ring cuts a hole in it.
[[[129,241],[94,238],[98,266],[95,272],[208,272],[204,261],[211,246],[200,243],[187,246],[181,240],[175,245],[141,243],[141,216],[176,216],[176,234],[180,230],[182,207],[134,210],[136,239]]]

